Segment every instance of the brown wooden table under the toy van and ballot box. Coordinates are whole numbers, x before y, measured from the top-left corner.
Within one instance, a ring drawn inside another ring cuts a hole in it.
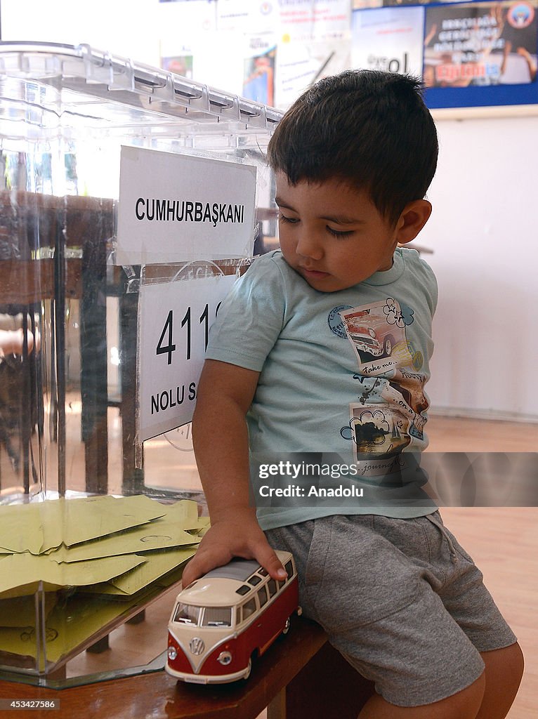
[[[295,618],[246,682],[176,682],[165,672],[65,690],[0,680],[1,719],[355,719],[373,687],[332,649],[322,628]],[[1,700],[59,700],[58,709],[10,710]]]

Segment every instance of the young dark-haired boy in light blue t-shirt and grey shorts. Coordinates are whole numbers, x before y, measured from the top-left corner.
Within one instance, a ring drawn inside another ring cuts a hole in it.
[[[271,547],[289,549],[304,613],[375,682],[361,719],[501,719],[521,679],[516,637],[406,469],[427,446],[437,301],[432,270],[399,247],[429,218],[437,165],[419,83],[320,81],[268,160],[281,250],[255,260],[211,328],[193,420],[211,529],[183,582],[234,556],[278,579]],[[252,477],[249,448],[269,458]],[[339,459],[333,490],[363,495],[312,501],[326,477],[301,471],[324,457]]]

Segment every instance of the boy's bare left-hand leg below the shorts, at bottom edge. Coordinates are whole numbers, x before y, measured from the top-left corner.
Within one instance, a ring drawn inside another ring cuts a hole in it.
[[[366,702],[358,719],[475,719],[485,690],[482,674],[470,687],[433,704],[397,707],[374,695]],[[488,719],[493,719],[493,716]]]

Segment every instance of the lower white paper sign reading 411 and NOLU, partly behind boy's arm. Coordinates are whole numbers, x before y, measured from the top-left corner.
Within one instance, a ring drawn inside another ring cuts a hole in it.
[[[235,275],[142,285],[138,441],[190,422],[209,327]]]

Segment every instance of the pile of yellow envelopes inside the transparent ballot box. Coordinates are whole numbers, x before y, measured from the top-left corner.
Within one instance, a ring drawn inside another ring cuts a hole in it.
[[[142,495],[0,506],[0,665],[32,668],[39,654],[42,671],[43,634],[47,666],[88,644],[180,580],[207,526],[195,502]]]

